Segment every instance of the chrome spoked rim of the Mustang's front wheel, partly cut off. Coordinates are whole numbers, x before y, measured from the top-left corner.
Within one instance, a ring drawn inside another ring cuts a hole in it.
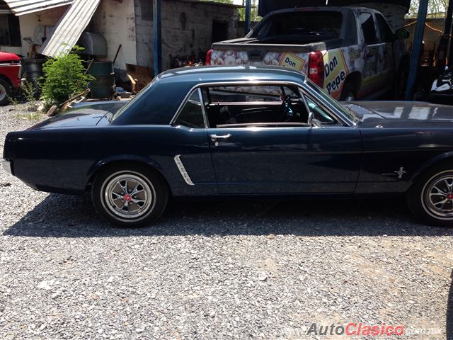
[[[442,220],[453,218],[453,174],[433,177],[423,190],[423,205],[430,215]]]

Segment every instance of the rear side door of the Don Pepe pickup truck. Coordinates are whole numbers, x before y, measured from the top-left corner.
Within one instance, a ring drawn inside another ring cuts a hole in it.
[[[362,43],[365,44],[365,66],[362,71],[362,88],[359,97],[367,96],[381,86],[381,74],[378,69],[381,44],[377,36],[377,26],[374,23],[372,13],[362,12],[359,15],[360,26],[362,27]]]

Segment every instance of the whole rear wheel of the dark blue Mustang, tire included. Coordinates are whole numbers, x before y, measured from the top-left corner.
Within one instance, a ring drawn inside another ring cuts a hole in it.
[[[147,166],[119,164],[96,176],[91,198],[99,215],[113,225],[143,227],[164,212],[168,189],[161,175]]]

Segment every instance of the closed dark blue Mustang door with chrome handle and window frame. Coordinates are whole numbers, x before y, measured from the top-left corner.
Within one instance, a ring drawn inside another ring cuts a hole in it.
[[[263,86],[263,91],[269,87]],[[338,122],[313,96],[306,95],[306,101],[302,93],[300,96],[293,98],[292,116],[300,111],[305,123],[270,123],[267,113],[263,122],[235,123],[235,113],[229,108],[229,123],[209,125],[207,134],[219,193],[354,191],[362,152],[360,132]],[[319,111],[316,113],[322,122],[319,127],[307,124],[302,112],[307,103],[311,105],[310,111],[315,108]],[[256,103],[251,104],[256,108]],[[284,106],[282,102],[279,105]],[[265,103],[262,110],[267,111]],[[209,119],[213,119],[213,113],[208,115]]]

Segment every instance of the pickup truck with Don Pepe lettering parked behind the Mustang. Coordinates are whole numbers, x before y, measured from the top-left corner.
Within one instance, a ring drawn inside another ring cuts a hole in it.
[[[403,39],[386,18],[363,7],[313,7],[273,11],[245,38],[214,42],[206,64],[268,64],[307,74],[333,98],[401,95],[408,70]]]

